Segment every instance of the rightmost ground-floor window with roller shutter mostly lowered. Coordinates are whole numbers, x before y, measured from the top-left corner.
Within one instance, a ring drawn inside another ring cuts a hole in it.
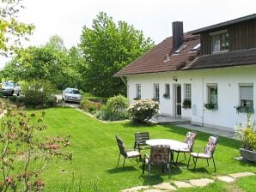
[[[240,86],[240,105],[253,108],[253,85]]]

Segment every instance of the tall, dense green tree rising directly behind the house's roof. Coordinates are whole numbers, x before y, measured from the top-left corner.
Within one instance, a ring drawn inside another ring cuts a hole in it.
[[[125,85],[113,74],[143,55],[153,45],[143,32],[125,21],[113,22],[112,17],[100,13],[92,28],[83,27],[80,48],[87,63],[86,83],[90,93],[109,97],[125,94]]]

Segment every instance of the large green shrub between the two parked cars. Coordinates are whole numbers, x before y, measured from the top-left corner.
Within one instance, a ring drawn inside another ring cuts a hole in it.
[[[25,96],[24,103],[29,106],[49,106],[52,104],[54,90],[50,81],[27,81],[22,85],[22,93]]]

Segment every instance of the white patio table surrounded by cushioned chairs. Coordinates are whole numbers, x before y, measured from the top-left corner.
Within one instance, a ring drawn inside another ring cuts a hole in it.
[[[180,142],[176,140],[168,140],[168,139],[153,139],[153,140],[147,140],[147,145],[149,146],[155,146],[155,145],[168,145],[170,146],[171,150],[171,162],[174,163],[174,151],[173,150],[181,150],[184,148],[187,148],[188,145],[185,142]]]

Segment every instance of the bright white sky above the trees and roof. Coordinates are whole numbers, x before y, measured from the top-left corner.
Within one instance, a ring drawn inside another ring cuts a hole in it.
[[[70,48],[79,42],[82,27],[90,27],[99,12],[114,21],[127,21],[160,43],[172,35],[172,22],[183,21],[184,31],[256,13],[256,1],[243,0],[23,0],[20,20],[36,29],[27,45],[43,45],[53,34]],[[0,58],[0,67],[6,59]]]

